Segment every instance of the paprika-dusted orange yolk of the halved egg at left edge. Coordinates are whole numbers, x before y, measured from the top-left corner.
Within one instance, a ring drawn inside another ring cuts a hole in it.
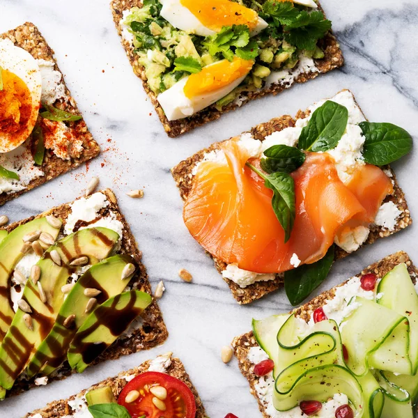
[[[25,128],[32,111],[32,97],[29,88],[20,77],[8,70],[2,70],[3,90],[0,91],[0,133],[9,134],[9,141],[16,140],[17,134]]]

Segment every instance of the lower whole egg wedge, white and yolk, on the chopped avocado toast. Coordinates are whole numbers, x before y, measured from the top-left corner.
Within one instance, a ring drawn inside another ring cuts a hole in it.
[[[169,121],[187,118],[222,99],[241,84],[251,71],[254,61],[235,56],[232,62],[224,59],[189,75],[160,93],[160,102]]]

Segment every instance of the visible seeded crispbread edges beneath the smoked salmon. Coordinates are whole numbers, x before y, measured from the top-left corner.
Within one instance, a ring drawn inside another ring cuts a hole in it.
[[[273,132],[279,132],[281,130],[284,130],[286,127],[293,127],[295,126],[295,122],[297,119],[306,118],[307,116],[309,116],[309,110],[300,110],[297,112],[295,118],[289,115],[280,116],[279,118],[272,118],[270,121],[266,123],[256,125],[256,127],[253,127],[250,132],[254,139],[263,141],[265,137],[268,137],[268,135],[272,134]],[[200,150],[198,153],[192,155],[192,157],[187,158],[187,160],[180,162],[176,167],[173,167],[173,169],[171,169],[171,173],[173,175],[174,180],[176,181],[177,187],[180,189],[180,196],[183,200],[187,199],[187,195],[192,189],[194,178],[192,171],[194,167],[201,160],[203,160],[203,157],[206,153],[219,148],[219,144],[220,142],[215,142],[208,148]],[[366,242],[364,242],[364,245],[372,244],[373,242],[378,240],[378,238],[384,238],[389,235],[392,235],[393,233],[401,231],[401,229],[405,229],[412,223],[410,211],[408,210],[408,205],[405,200],[405,195],[403,194],[401,187],[399,187],[398,185],[394,171],[392,171],[392,169],[389,166],[382,167],[382,169],[384,169],[387,172],[394,186],[394,193],[390,196],[387,196],[384,200],[384,203],[388,201],[393,201],[396,204],[396,207],[399,210],[401,210],[401,215],[396,220],[396,225],[394,226],[394,229],[392,231],[389,231],[389,229],[383,228],[382,226],[371,225],[369,238],[367,238]],[[348,254],[349,253],[347,253],[340,247],[336,247],[336,259],[348,256]],[[212,254],[209,254],[209,256],[211,256],[215,261],[215,267],[217,268],[219,273],[221,273],[222,270],[225,270],[226,263],[217,260],[217,258],[212,256]],[[277,290],[283,284],[283,278],[281,274],[276,274],[276,279],[274,280],[258,281],[254,284],[247,286],[246,288],[241,288],[238,284],[229,279],[224,278],[224,280],[229,285],[229,288],[231,288],[233,297],[235,297],[235,300],[237,300],[240,304],[248,304],[254,302],[254,300],[257,300],[263,297],[264,295],[267,295],[268,293]]]

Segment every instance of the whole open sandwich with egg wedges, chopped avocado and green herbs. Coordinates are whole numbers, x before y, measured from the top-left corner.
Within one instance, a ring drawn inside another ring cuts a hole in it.
[[[318,1],[112,0],[170,137],[343,65]]]

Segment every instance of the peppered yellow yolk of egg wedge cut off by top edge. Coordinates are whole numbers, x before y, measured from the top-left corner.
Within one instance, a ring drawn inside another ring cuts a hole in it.
[[[220,31],[222,26],[245,24],[254,29],[258,23],[257,13],[245,6],[229,0],[180,0],[199,22],[212,31]]]

